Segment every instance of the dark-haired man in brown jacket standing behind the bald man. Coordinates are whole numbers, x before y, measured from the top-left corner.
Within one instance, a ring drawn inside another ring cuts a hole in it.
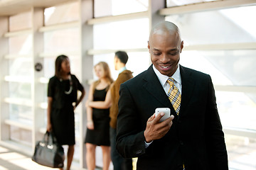
[[[110,145],[111,159],[114,170],[131,170],[132,158],[124,159],[117,152],[115,138],[117,136],[117,114],[120,84],[132,79],[132,72],[127,70],[126,64],[128,61],[127,52],[117,51],[114,53],[114,69],[118,70],[119,75],[114,81],[110,90],[107,92],[105,101],[90,101],[88,106],[92,108],[109,108],[110,107]]]

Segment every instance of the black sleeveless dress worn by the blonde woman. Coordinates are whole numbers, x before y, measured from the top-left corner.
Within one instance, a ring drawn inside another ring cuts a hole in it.
[[[106,94],[106,89],[95,89],[93,101],[105,101]],[[85,143],[110,146],[110,109],[92,108],[92,121],[94,130],[87,128]]]

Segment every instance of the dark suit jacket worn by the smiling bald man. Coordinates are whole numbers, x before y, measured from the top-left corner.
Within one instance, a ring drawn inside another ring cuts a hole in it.
[[[176,115],[152,65],[121,84],[117,117],[117,150],[122,157],[138,157],[137,170],[228,169],[228,156],[215,92],[208,74],[180,65],[181,110]],[[145,149],[146,121],[156,108],[171,108],[173,125]]]

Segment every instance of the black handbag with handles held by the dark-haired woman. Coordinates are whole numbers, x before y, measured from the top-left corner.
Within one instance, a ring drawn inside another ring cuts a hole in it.
[[[43,140],[36,142],[32,160],[43,166],[63,168],[64,149],[58,144],[53,132],[46,132]]]

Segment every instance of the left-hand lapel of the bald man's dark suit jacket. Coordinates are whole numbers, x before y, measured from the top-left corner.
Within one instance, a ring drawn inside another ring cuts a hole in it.
[[[161,86],[161,83],[159,79],[156,77],[156,74],[153,70],[152,64],[147,70],[147,74],[143,78],[145,83],[144,83],[144,88],[149,91],[149,94],[154,96],[157,101],[162,103],[166,107],[170,107],[170,101],[169,98],[167,97],[163,87]]]

